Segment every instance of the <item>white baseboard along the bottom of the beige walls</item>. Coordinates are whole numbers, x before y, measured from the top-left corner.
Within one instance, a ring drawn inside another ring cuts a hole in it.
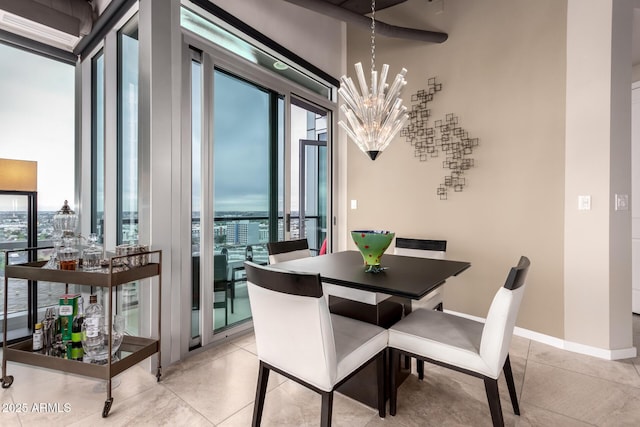
[[[457,311],[445,310],[447,313],[455,314],[456,316],[465,317],[467,319],[475,320],[477,322],[484,323],[485,319],[482,317],[471,316],[469,314],[460,313]],[[571,351],[573,353],[585,354],[587,356],[598,357],[606,360],[620,360],[630,359],[636,357],[638,351],[635,347],[629,347],[617,350],[608,350],[598,347],[592,347],[585,344],[574,343],[571,341],[565,341],[560,338],[552,337],[550,335],[541,334],[539,332],[530,331],[520,327],[515,327],[513,334],[522,338],[527,338],[533,341],[537,341],[542,344],[547,344],[552,347],[556,347],[562,350]]]

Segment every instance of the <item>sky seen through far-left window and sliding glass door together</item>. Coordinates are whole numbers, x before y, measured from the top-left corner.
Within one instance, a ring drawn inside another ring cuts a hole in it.
[[[226,74],[215,75],[215,210],[266,211],[269,95]],[[304,110],[294,106],[292,119],[297,142],[306,136]],[[298,158],[297,147],[294,143],[292,159]],[[0,157],[38,162],[38,210],[57,211],[64,200],[76,209],[72,66],[0,44]],[[292,176],[298,172],[294,163]],[[297,181],[292,180],[296,211]],[[194,186],[194,197],[199,190]],[[15,200],[0,197],[0,210],[14,208]]]

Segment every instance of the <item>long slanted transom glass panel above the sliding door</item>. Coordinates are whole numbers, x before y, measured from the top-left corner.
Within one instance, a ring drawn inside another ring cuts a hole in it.
[[[287,63],[283,58],[278,58],[265,49],[243,40],[185,7],[180,9],[180,24],[183,28],[193,31],[249,62],[258,64],[272,73],[276,73],[314,93],[331,99],[332,91],[330,85],[318,81],[303,70],[296,68],[294,64]]]

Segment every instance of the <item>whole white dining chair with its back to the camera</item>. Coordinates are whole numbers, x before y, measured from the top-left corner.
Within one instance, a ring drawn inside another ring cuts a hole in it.
[[[258,359],[252,426],[259,426],[269,372],[322,396],[321,425],[330,426],[333,392],[376,363],[378,413],[386,413],[387,330],[329,313],[319,274],[294,273],[245,262]]]

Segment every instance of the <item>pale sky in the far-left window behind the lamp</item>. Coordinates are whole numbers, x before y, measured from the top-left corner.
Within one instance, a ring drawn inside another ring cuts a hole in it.
[[[74,67],[0,44],[0,157],[38,162],[38,210],[74,202]],[[67,155],[65,155],[67,154]],[[0,209],[13,201],[0,197]]]

